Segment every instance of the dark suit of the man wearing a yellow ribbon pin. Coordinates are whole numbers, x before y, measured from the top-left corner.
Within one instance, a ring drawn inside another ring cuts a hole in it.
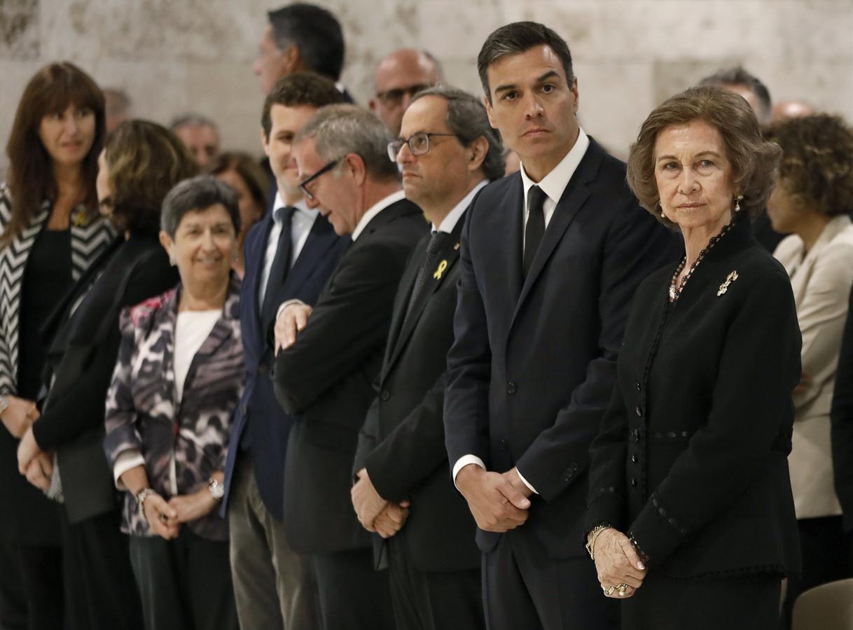
[[[367,468],[382,498],[411,503],[396,536],[387,542],[373,536],[374,556],[388,559],[398,627],[478,628],[485,623],[476,525],[447,474],[444,448],[444,372],[453,343],[463,223],[464,215],[430,258],[427,282],[411,306],[429,234],[403,272],[379,396],[368,411],[354,465],[354,472]]]

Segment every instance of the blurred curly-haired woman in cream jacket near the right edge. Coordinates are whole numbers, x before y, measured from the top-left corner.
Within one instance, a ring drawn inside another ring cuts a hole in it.
[[[829,419],[853,286],[853,129],[821,114],[775,123],[767,136],[782,147],[780,180],[767,215],[776,232],[791,234],[774,256],[791,276],[803,333],[803,378],[793,395],[788,457],[803,574],[788,582],[790,617],[800,592],[853,576],[850,535],[833,487],[833,465],[849,465],[850,451],[833,462]]]

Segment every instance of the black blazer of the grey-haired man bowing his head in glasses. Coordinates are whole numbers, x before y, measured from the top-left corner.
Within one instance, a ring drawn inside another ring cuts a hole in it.
[[[296,343],[276,357],[276,397],[297,416],[284,467],[284,526],[297,552],[369,546],[350,498],[358,431],[375,394],[397,284],[427,230],[403,199],[341,258]]]

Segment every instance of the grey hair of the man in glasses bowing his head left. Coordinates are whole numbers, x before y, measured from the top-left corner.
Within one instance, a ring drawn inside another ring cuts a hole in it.
[[[293,144],[310,139],[314,140],[317,156],[324,162],[356,153],[363,159],[370,176],[385,180],[400,176],[397,165],[388,159],[391,132],[374,113],[362,107],[321,107],[299,130]]]

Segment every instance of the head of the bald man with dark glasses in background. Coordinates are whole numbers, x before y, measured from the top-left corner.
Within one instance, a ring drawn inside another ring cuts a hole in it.
[[[393,136],[399,136],[400,122],[412,97],[440,80],[441,66],[426,50],[397,49],[376,66],[376,95],[368,107]]]

